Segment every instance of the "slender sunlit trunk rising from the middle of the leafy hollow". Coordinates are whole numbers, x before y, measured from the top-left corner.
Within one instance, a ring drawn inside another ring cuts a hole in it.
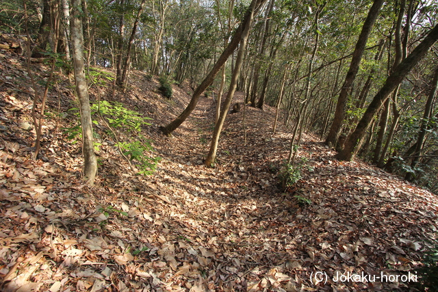
[[[240,41],[240,48],[239,51],[237,52],[235,67],[233,70],[233,75],[231,76],[230,88],[227,93],[227,98],[225,99],[224,108],[222,109],[222,112],[220,113],[220,118],[216,123],[216,127],[214,128],[213,137],[211,138],[211,146],[209,153],[207,155],[207,159],[205,159],[205,165],[209,167],[214,167],[216,161],[216,152],[218,150],[220,132],[222,131],[225,118],[227,117],[228,109],[231,105],[231,101],[234,96],[235,88],[237,85],[237,79],[239,78],[240,75],[240,68],[242,68],[242,62],[244,59],[244,53],[246,49],[246,40],[248,40],[250,27],[253,22],[253,15],[254,15],[254,9],[256,3],[257,1],[253,1],[250,7],[248,8],[249,10],[248,21],[245,25],[244,31],[242,31],[242,37],[241,37],[242,40]]]

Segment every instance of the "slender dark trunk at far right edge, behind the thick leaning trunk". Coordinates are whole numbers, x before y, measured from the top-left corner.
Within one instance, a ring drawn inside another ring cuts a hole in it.
[[[429,96],[426,101],[426,107],[424,108],[424,115],[422,120],[422,125],[420,127],[420,133],[418,133],[417,145],[415,147],[415,156],[411,162],[411,168],[417,167],[420,156],[422,155],[424,137],[426,137],[426,130],[428,127],[428,122],[433,112],[433,101],[435,100],[435,95],[437,94],[438,88],[438,67],[435,69],[435,75],[433,76],[432,88],[430,89]],[[407,181],[413,181],[413,175],[409,172],[406,174],[405,178]]]

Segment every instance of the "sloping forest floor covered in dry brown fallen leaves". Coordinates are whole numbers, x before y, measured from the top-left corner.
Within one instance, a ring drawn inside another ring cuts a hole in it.
[[[142,135],[153,140],[149,155],[162,159],[152,175],[135,175],[102,134],[90,188],[80,145],[62,131],[75,120],[72,77],[58,76],[49,90],[52,115],[33,161],[25,58],[0,53],[1,291],[415,291],[407,276],[437,237],[437,196],[360,160],[337,161],[307,134],[302,178],[282,190],[292,134],[282,123],[272,134],[268,106],[246,107],[246,143],[244,112],[227,116],[218,163],[207,168],[212,99],[201,98],[166,137],[158,127],[188,104],[191,89],[173,85],[166,100],[141,72],[125,93],[92,86],[90,96],[153,118]],[[47,79],[47,65],[31,70]],[[351,274],[369,276],[337,281]]]

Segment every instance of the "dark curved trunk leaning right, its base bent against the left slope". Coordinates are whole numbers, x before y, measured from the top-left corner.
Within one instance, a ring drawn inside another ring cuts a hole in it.
[[[250,7],[251,6],[255,7],[254,14],[257,13],[261,5],[263,5],[263,3],[265,2],[266,0],[253,0]],[[233,53],[233,51],[239,44],[240,39],[242,38],[242,31],[244,31],[248,23],[250,23],[251,21],[250,15],[252,14],[253,14],[252,11],[248,9],[244,17],[244,20],[242,21],[242,23],[240,23],[239,27],[237,27],[237,30],[235,31],[235,34],[231,39],[231,41],[229,42],[227,48],[224,49],[222,55],[220,55],[218,61],[216,62],[216,64],[214,64],[213,68],[211,69],[207,77],[205,77],[205,79],[201,82],[201,84],[198,85],[198,88],[194,90],[192,99],[190,100],[188,106],[185,107],[183,112],[175,120],[173,120],[172,122],[170,122],[170,124],[168,124],[166,127],[163,127],[161,129],[165,135],[170,135],[173,131],[175,131],[175,129],[177,129],[185,121],[185,119],[188,118],[188,116],[190,116],[190,114],[196,107],[196,104],[198,103],[201,94],[209,85],[211,85],[211,83],[214,81],[214,77],[216,77],[220,68],[222,68],[225,62],[227,62],[228,57],[231,55],[231,53]]]

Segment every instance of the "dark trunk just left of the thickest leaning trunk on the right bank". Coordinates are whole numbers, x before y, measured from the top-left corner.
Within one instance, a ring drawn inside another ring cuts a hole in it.
[[[368,36],[370,36],[372,27],[374,25],[374,22],[376,21],[378,12],[380,12],[381,10],[382,4],[383,0],[374,0],[370,12],[368,12],[365,23],[363,23],[362,31],[359,35],[359,39],[357,40],[355,51],[351,59],[350,68],[348,69],[344,85],[342,85],[341,93],[339,94],[339,98],[337,99],[335,118],[333,119],[333,124],[331,125],[329,135],[326,137],[327,144],[331,143],[335,145],[337,142],[337,137],[339,136],[339,133],[342,129],[342,124],[344,123],[344,118],[346,114],[348,92],[351,89],[353,81],[355,81],[355,77],[361,63],[363,51],[368,41]]]

